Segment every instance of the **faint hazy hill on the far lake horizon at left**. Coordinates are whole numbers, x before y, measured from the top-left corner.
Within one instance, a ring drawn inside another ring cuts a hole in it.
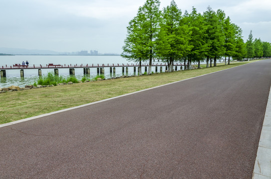
[[[0,47],[0,53],[2,54],[13,54],[13,55],[59,55],[61,52],[55,52],[51,50],[28,50],[20,48],[5,48]]]

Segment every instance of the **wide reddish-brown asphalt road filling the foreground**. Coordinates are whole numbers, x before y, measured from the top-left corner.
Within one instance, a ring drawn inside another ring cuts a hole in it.
[[[251,179],[270,85],[263,60],[2,127],[0,179]]]

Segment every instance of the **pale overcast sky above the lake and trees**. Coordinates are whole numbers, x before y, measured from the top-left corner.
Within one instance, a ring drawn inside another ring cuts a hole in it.
[[[160,9],[171,0],[161,0]],[[246,41],[271,42],[271,0],[175,0],[189,13],[210,5],[243,29]],[[121,53],[128,22],[145,0],[1,0],[0,47]]]

